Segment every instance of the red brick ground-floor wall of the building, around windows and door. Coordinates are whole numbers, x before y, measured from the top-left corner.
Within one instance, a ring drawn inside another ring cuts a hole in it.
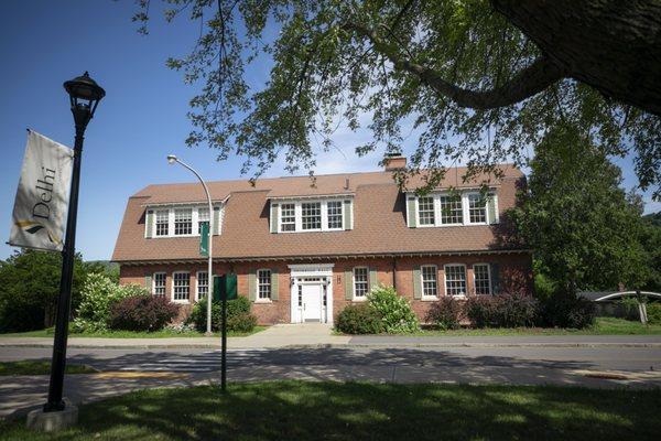
[[[278,273],[278,300],[269,303],[254,302],[252,312],[257,315],[260,324],[290,323],[291,322],[291,284],[289,265],[306,263],[310,261],[262,261],[262,262],[219,262],[214,265],[214,273],[221,275],[234,271],[238,276],[238,293],[248,297],[248,275],[256,269],[270,269]],[[465,256],[436,256],[436,257],[393,257],[393,258],[353,258],[333,263],[333,315],[337,314],[351,300],[345,299],[345,271],[351,271],[354,267],[368,267],[376,270],[377,282],[383,286],[394,286],[400,295],[407,298],[421,320],[424,320],[426,311],[433,300],[414,299],[413,268],[421,265],[435,265],[437,267],[438,295],[445,295],[444,265],[463,263],[466,266],[467,291],[470,295],[474,290],[473,265],[474,263],[498,263],[498,280],[500,291],[514,289],[531,289],[531,256],[528,252],[503,252],[486,255]],[[121,283],[137,283],[144,286],[145,277],[154,272],[166,273],[165,292],[172,299],[172,273],[174,271],[189,271],[189,302],[183,303],[182,316],[189,312],[195,302],[196,273],[206,271],[205,262],[199,263],[158,263],[158,265],[121,265]],[[394,273],[394,277],[393,277]],[[151,287],[149,287],[151,289]]]

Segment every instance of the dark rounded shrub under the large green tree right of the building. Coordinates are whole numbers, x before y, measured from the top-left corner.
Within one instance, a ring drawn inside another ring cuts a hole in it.
[[[542,312],[544,324],[556,327],[583,329],[595,323],[595,304],[583,298],[556,292]]]

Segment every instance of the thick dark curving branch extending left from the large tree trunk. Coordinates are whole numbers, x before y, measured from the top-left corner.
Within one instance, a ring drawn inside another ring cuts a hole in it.
[[[490,90],[470,90],[448,83],[434,69],[403,58],[393,44],[384,41],[372,29],[357,23],[347,23],[345,28],[367,37],[375,49],[390,60],[394,68],[409,72],[438,94],[452,99],[459,107],[473,109],[494,109],[522,101],[544,90],[564,78],[564,72],[546,57],[535,60],[506,84]]]

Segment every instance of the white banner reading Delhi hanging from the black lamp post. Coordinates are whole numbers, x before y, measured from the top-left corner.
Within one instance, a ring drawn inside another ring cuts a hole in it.
[[[28,131],[9,245],[62,251],[73,163],[72,149]]]

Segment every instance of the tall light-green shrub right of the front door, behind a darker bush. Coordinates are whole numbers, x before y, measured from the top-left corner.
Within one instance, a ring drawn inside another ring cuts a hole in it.
[[[418,316],[403,297],[392,287],[376,287],[367,294],[369,304],[381,315],[383,331],[388,333],[420,330]]]

